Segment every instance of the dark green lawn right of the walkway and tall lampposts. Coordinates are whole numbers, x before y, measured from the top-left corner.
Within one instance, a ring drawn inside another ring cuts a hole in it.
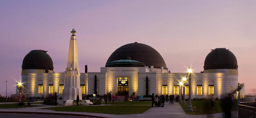
[[[188,102],[186,102],[188,104]],[[237,111],[237,101],[232,102],[232,108],[231,111]],[[192,106],[197,107],[197,112],[186,112],[187,111],[187,105],[182,105],[180,103],[180,106],[183,108],[186,114],[193,114],[193,115],[203,115],[203,114],[212,114],[212,113],[221,113],[222,110],[222,104],[223,101],[215,101],[214,107],[211,108],[211,102],[205,102],[205,101],[192,101]]]

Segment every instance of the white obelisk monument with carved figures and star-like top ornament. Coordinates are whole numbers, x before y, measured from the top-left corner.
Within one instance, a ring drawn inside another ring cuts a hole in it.
[[[68,50],[68,65],[65,71],[65,85],[63,89],[64,105],[72,105],[73,100],[76,100],[77,95],[82,100],[82,91],[80,89],[80,69],[78,67],[77,55],[77,40],[76,31],[71,31],[69,50]]]

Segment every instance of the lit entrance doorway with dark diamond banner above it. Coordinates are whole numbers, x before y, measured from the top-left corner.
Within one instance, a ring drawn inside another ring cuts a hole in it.
[[[117,78],[117,96],[129,95],[129,78]]]

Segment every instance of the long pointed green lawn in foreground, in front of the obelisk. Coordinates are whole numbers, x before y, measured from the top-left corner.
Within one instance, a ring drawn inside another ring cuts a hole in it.
[[[147,111],[151,106],[124,106],[124,105],[108,105],[108,106],[67,106],[67,107],[50,107],[42,109],[50,109],[63,112],[90,112],[90,113],[107,113],[107,114],[137,114]]]

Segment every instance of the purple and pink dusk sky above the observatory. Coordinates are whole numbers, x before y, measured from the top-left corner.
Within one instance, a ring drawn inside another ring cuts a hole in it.
[[[67,66],[70,31],[77,31],[79,66],[99,72],[127,43],[155,48],[172,72],[203,71],[211,49],[226,47],[238,61],[238,82],[256,95],[255,0],[1,0],[0,93],[15,93],[24,56],[48,51],[55,72]]]

